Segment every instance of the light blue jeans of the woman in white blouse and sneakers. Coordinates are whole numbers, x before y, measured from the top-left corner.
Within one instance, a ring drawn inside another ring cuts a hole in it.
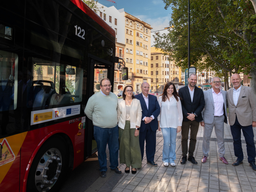
[[[164,138],[164,147],[163,147],[163,162],[164,163],[174,163],[176,159],[176,136],[177,129],[172,127],[161,128]]]

